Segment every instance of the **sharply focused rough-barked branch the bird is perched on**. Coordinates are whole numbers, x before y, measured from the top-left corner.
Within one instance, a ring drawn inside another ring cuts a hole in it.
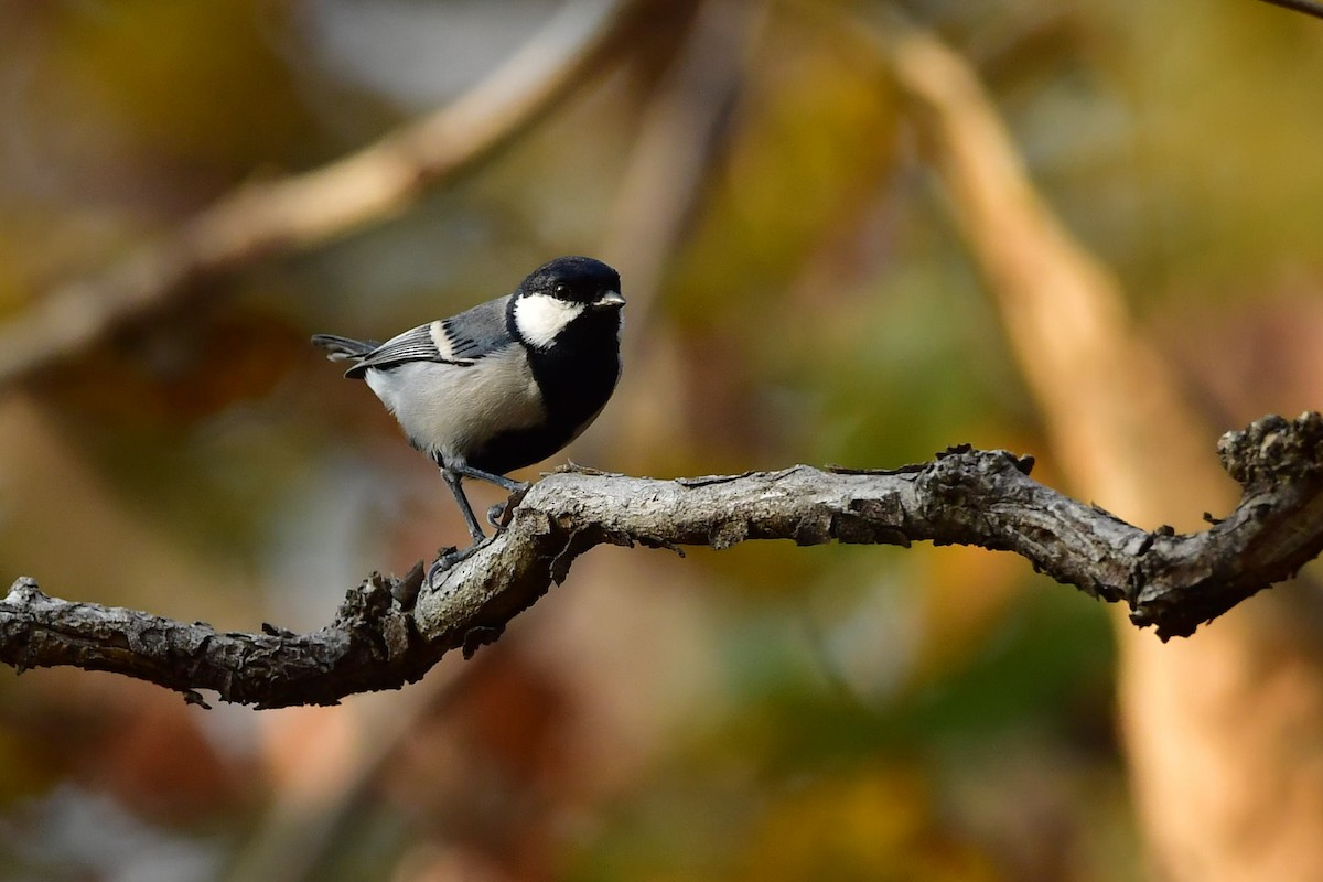
[[[45,595],[20,578],[0,602],[0,660],[22,670],[73,665],[159,684],[201,702],[333,703],[421,678],[466,655],[603,545],[726,549],[745,540],[822,545],[978,545],[1027,558],[1085,594],[1125,602],[1163,637],[1290,578],[1323,551],[1323,415],[1267,417],[1218,443],[1242,488],[1201,533],[1147,532],[1028,477],[1031,459],[951,448],[894,471],[779,472],[669,481],[570,471],[538,481],[505,532],[425,586],[380,574],[345,596],[335,621],[304,635],[218,632],[146,612]]]

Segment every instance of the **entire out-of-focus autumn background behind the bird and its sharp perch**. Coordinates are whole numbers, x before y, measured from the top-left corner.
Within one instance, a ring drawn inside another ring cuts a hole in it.
[[[0,0],[0,578],[328,623],[464,528],[308,336],[577,253],[630,305],[576,461],[968,442],[1197,529],[1217,436],[1323,402],[1320,78],[1249,0]],[[455,102],[394,197],[267,212]],[[1323,878],[1316,596],[1163,645],[1004,554],[598,549],[337,707],[5,669],[0,878]]]

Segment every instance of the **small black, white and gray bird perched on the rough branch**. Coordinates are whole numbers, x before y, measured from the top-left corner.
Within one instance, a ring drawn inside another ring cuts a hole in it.
[[[377,344],[316,335],[352,361],[455,495],[474,545],[486,538],[464,496],[472,477],[509,492],[505,472],[564,448],[597,419],[620,378],[620,275],[601,261],[556,258],[513,294]]]

